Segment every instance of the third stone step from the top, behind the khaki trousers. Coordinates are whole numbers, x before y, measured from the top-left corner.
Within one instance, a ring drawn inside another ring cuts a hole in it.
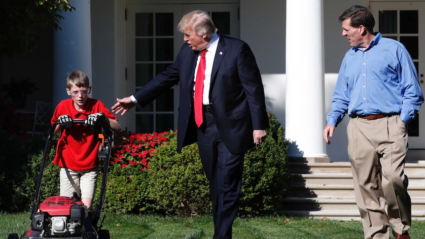
[[[425,185],[409,185],[410,197],[424,197]],[[354,197],[353,185],[292,185],[290,197]]]

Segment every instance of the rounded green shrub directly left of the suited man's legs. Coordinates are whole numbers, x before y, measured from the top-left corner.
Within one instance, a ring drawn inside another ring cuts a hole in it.
[[[176,152],[177,138],[159,147],[149,167],[149,199],[156,212],[167,215],[211,213],[208,180],[202,169],[198,146]]]

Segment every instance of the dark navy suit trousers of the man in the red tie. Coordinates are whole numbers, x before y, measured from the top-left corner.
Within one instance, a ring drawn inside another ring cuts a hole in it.
[[[231,239],[242,185],[245,154],[232,154],[221,140],[212,114],[204,113],[198,148],[213,204],[213,239]]]

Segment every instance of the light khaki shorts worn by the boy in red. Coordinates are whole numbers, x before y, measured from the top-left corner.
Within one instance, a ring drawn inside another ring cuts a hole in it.
[[[72,197],[76,192],[81,198],[93,199],[99,170],[73,171],[62,168],[60,172],[61,196]]]

